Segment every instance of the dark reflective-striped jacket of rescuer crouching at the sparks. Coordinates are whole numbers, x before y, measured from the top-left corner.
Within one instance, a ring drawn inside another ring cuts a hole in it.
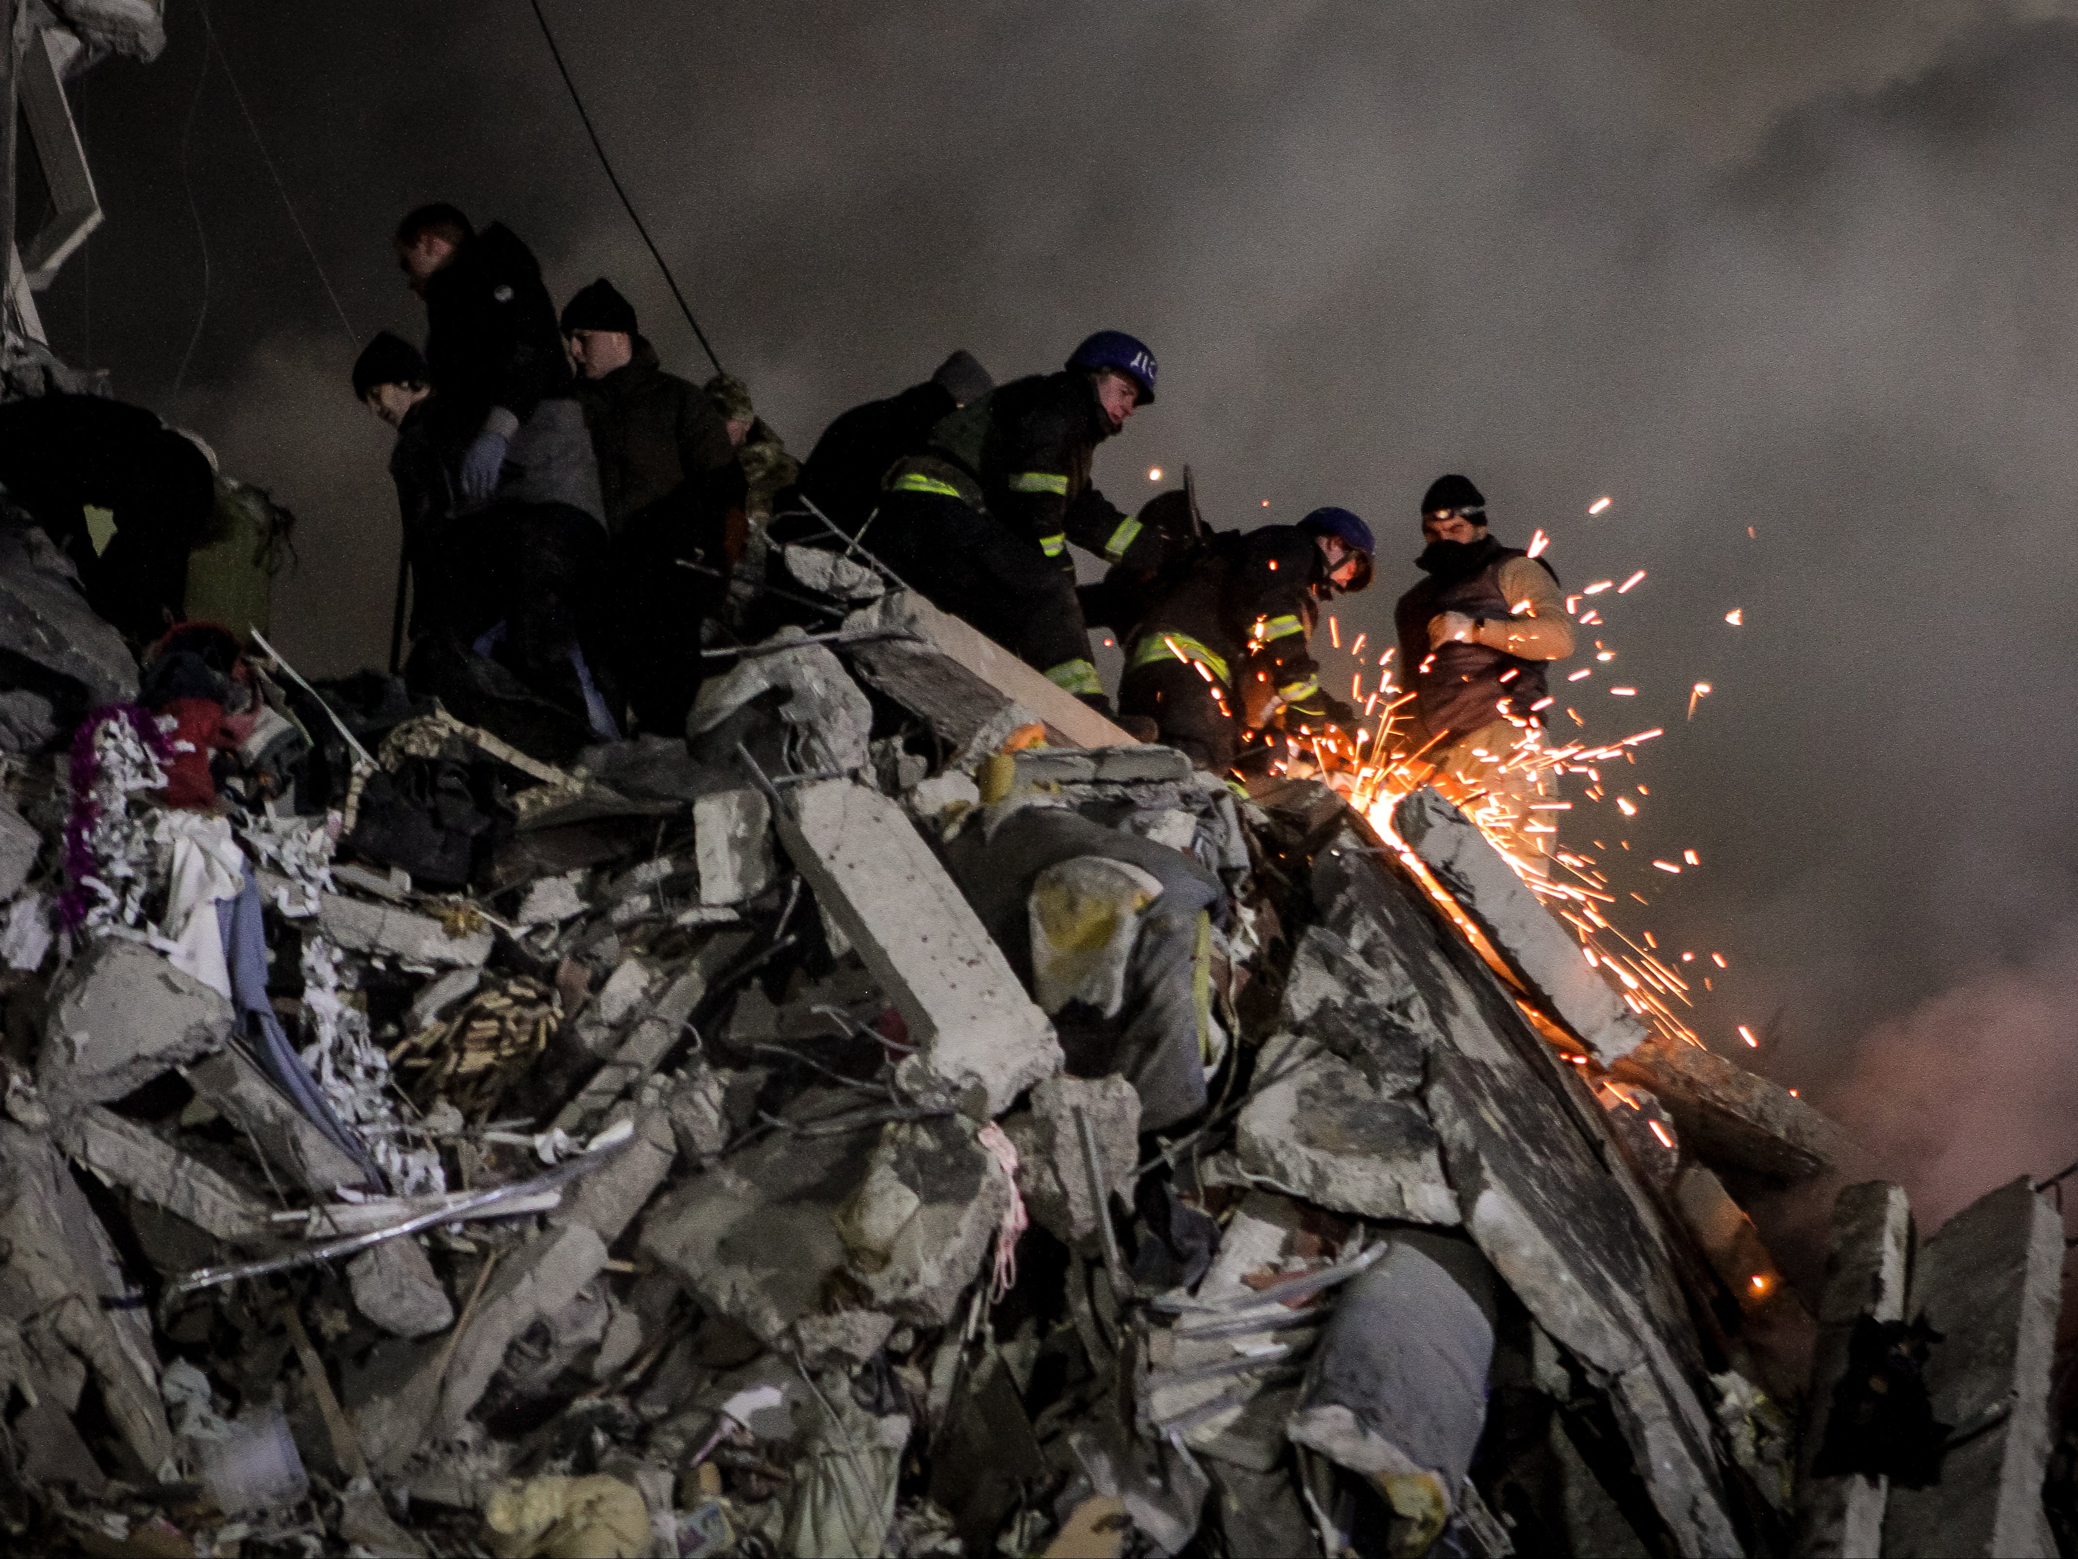
[[[1326,574],[1328,559],[1299,526],[1222,530],[1155,584],[1126,663],[1203,661],[1230,690],[1263,673],[1286,705],[1320,713],[1307,638]]]

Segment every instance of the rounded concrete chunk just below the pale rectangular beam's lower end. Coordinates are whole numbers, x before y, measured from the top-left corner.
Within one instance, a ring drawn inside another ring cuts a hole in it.
[[[1010,1199],[1010,1179],[970,1120],[891,1120],[833,1222],[875,1310],[943,1326],[981,1274]]]

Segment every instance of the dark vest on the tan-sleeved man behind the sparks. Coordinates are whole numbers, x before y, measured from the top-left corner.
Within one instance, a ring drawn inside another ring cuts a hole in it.
[[[1531,705],[1546,692],[1546,661],[1525,661],[1486,644],[1440,644],[1434,651],[1428,642],[1428,626],[1438,613],[1461,611],[1467,617],[1488,617],[1507,622],[1509,597],[1500,588],[1500,565],[1511,557],[1527,557],[1521,547],[1502,547],[1492,536],[1473,543],[1473,567],[1467,574],[1440,578],[1426,576],[1392,609],[1394,628],[1401,636],[1401,671],[1415,692],[1415,713],[1434,736],[1469,736],[1482,725],[1490,725],[1502,715],[1536,719],[1544,713]],[[1550,563],[1538,563],[1554,580]],[[1509,676],[1513,671],[1513,676]],[[1502,682],[1502,678],[1507,678]],[[1444,740],[1450,740],[1444,736]]]

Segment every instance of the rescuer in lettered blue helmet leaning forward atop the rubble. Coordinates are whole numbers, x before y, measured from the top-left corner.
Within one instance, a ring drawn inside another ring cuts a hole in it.
[[[1110,713],[1068,543],[1128,555],[1141,522],[1091,484],[1097,445],[1155,399],[1155,358],[1099,331],[1058,374],[1002,385],[939,422],[887,476],[875,551],[937,607]]]

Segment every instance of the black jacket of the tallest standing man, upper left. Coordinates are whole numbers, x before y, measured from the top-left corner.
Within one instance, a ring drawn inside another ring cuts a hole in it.
[[[555,303],[532,252],[503,222],[426,279],[426,370],[457,416],[503,405],[520,422],[569,393]]]

